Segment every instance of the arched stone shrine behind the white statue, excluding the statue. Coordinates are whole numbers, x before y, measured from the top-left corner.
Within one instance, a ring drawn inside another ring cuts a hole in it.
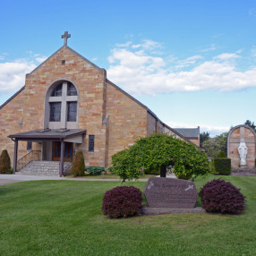
[[[255,140],[256,134],[250,126],[237,125],[232,128],[227,135],[227,158],[231,158],[232,168],[240,167],[240,156],[238,147],[241,141],[244,141],[248,148],[246,157],[246,166],[255,167]]]

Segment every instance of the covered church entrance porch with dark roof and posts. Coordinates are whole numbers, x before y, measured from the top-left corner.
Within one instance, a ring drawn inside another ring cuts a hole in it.
[[[51,160],[60,161],[59,175],[64,175],[64,161],[72,161],[73,143],[82,143],[82,129],[42,129],[9,135],[14,141],[13,175],[17,170],[19,141],[37,141],[42,143],[41,158],[52,156]],[[51,147],[47,147],[51,145]]]

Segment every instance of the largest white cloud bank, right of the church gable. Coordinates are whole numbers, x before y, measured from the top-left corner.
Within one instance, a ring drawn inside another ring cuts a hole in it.
[[[159,47],[156,43],[153,45]],[[256,67],[238,71],[235,61],[240,55],[235,53],[223,53],[203,62],[201,55],[192,55],[170,65],[167,58],[153,54],[153,47],[147,51],[135,46],[132,48],[130,44],[129,48],[113,49],[108,57],[111,65],[107,70],[108,79],[133,95],[256,87]],[[201,62],[197,63],[198,60]],[[179,65],[192,65],[192,68],[174,72]]]

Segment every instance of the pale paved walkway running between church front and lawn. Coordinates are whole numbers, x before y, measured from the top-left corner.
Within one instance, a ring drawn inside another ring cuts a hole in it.
[[[175,178],[175,175],[167,175],[167,178]],[[87,179],[75,177],[57,177],[57,176],[36,176],[36,175],[0,175],[0,185],[9,183],[19,183],[25,181],[86,181],[86,182],[120,182],[119,179]],[[139,179],[139,182],[147,182],[148,179]]]

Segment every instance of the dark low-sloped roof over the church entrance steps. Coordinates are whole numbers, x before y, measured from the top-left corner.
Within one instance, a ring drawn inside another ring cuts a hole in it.
[[[19,141],[61,141],[85,133],[84,129],[37,129],[11,134],[8,137]]]

